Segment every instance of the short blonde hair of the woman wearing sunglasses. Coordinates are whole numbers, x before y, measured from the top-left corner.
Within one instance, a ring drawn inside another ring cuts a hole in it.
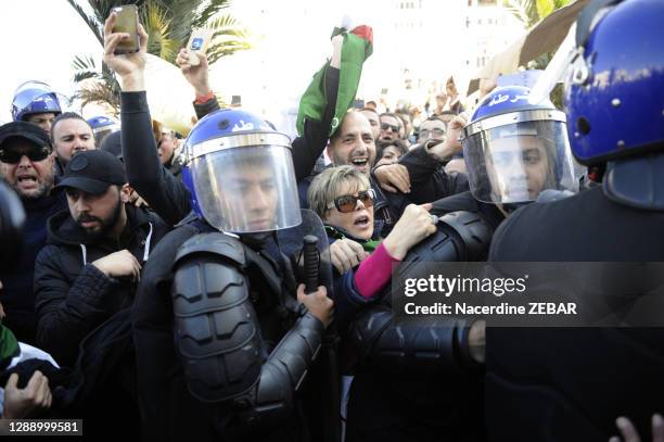
[[[335,166],[320,173],[307,191],[307,202],[309,209],[325,219],[328,204],[339,195],[344,185],[355,185],[357,190],[369,189],[371,186],[369,178],[353,166]]]

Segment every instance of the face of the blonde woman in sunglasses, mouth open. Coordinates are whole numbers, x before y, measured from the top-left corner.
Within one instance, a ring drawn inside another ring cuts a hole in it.
[[[335,198],[344,195],[358,197],[359,192],[369,190],[359,188],[357,184],[346,184]],[[333,203],[333,201],[330,201]],[[373,236],[373,206],[366,206],[357,200],[353,212],[340,212],[336,206],[328,209],[325,212],[325,223],[331,226],[344,229],[348,235],[363,240],[369,240]]]

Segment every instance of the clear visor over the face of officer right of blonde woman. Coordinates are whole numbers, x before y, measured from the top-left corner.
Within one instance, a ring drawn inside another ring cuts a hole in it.
[[[493,204],[537,200],[547,189],[578,191],[564,122],[494,127],[464,139],[473,195]]]

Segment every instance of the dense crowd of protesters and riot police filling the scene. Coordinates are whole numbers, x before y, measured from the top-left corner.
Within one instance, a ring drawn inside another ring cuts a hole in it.
[[[199,121],[187,139],[153,122],[148,35],[115,54],[112,14],[119,122],[29,81],[0,126],[2,417],[145,440],[664,440],[660,328],[393,314],[399,263],[664,261],[664,58],[635,50],[664,41],[664,3],[609,3],[579,17],[565,112],[523,86],[464,109],[454,81],[423,110],[354,109],[365,26],[333,37],[294,140],[221,109],[187,49]]]

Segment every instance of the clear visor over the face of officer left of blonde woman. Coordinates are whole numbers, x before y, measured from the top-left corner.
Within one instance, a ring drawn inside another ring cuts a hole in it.
[[[254,233],[302,223],[288,147],[219,150],[194,157],[191,173],[201,213],[219,230]]]

